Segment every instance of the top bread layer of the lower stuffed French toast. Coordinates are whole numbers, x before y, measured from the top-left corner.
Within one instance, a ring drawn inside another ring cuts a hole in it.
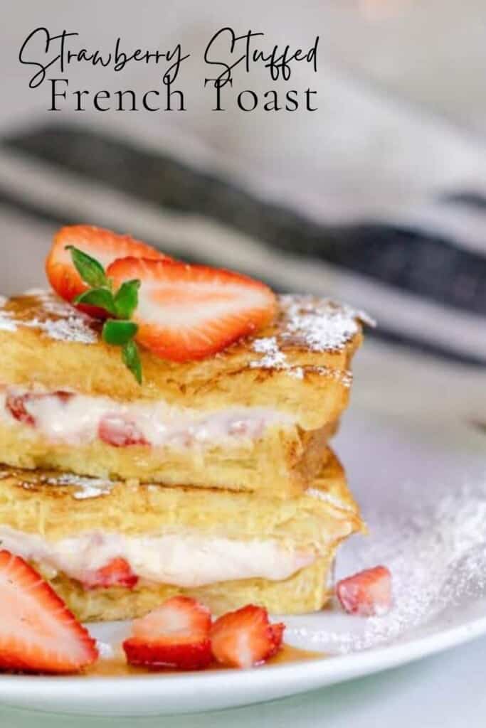
[[[86,495],[90,486],[94,497]],[[324,548],[363,529],[345,473],[329,451],[304,494],[274,499],[218,488],[105,483],[40,471],[0,472],[0,525],[49,540],[85,531],[127,536],[197,532],[232,539],[277,539]]]

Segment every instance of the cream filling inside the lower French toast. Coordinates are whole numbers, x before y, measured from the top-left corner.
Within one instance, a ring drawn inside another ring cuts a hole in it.
[[[50,541],[37,534],[0,526],[1,547],[83,582],[111,559],[124,558],[141,579],[179,587],[199,587],[230,579],[260,577],[281,581],[309,566],[313,551],[275,540],[238,541],[191,532],[126,536],[87,531]]]

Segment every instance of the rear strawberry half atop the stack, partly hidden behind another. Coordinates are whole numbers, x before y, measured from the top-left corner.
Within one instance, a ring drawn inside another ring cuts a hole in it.
[[[87,290],[71,260],[67,245],[74,245],[82,253],[95,258],[103,268],[107,268],[117,258],[132,256],[133,258],[154,258],[170,260],[163,253],[150,245],[135,240],[130,235],[118,235],[103,228],[91,225],[71,225],[61,228],[54,236],[52,248],[46,260],[46,273],[50,285],[58,296],[72,303],[74,298]],[[101,309],[93,306],[79,306],[79,309],[105,317]]]

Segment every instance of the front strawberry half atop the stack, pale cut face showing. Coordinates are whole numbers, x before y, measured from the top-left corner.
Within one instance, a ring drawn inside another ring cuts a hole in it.
[[[141,280],[137,339],[163,359],[187,361],[220,352],[270,322],[275,296],[263,283],[207,266],[124,258],[107,271],[116,286]]]

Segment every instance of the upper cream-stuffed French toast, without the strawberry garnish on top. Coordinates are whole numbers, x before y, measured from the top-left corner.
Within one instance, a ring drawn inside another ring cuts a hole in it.
[[[205,360],[141,353],[50,293],[0,306],[0,461],[78,475],[295,496],[348,404],[361,314],[281,296],[275,322]]]

